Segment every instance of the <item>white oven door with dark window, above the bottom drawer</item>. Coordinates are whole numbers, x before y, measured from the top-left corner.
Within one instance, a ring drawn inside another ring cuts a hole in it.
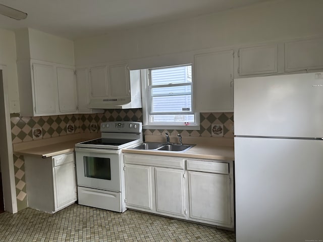
[[[75,148],[77,185],[121,192],[120,151]]]

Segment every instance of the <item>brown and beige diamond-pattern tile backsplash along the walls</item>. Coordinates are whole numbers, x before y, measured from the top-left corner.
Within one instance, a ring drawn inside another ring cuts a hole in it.
[[[74,125],[74,133],[90,133],[90,125],[100,127],[107,121],[134,121],[142,122],[142,109],[106,109],[104,113],[94,114],[68,114],[41,117],[20,117],[11,114],[12,143],[33,140],[33,129],[41,129],[42,139],[69,135],[67,125]],[[144,130],[144,135],[163,135],[165,131],[170,135],[192,137],[211,137],[212,125],[223,125],[226,138],[233,138],[230,126],[233,124],[233,112],[226,113],[200,113],[200,130]],[[26,179],[24,157],[14,155],[16,194],[18,211],[27,207]]]

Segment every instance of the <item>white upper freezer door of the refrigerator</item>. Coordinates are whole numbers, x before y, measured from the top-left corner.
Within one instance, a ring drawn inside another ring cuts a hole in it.
[[[323,137],[323,73],[234,80],[237,136]]]

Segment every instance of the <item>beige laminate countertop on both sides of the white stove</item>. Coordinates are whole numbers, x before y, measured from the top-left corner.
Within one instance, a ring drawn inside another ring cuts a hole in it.
[[[14,153],[19,155],[50,157],[68,152],[73,152],[76,143],[99,138],[100,135],[92,134],[74,134],[60,136],[56,138],[41,139],[30,142],[14,144]],[[173,138],[173,140],[172,140]],[[171,142],[176,142],[176,137],[171,137]],[[146,142],[165,143],[164,136],[146,135]],[[153,150],[134,150],[123,149],[124,153],[149,154],[149,155],[167,155],[177,157],[188,157],[197,159],[216,159],[216,160],[234,160],[233,139],[227,138],[208,138],[208,137],[183,137],[184,144],[195,144],[194,147],[185,152],[174,151],[153,151]]]

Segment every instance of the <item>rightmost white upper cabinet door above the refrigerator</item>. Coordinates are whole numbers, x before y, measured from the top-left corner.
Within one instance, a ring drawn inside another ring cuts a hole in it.
[[[285,71],[323,69],[323,38],[285,42]]]

